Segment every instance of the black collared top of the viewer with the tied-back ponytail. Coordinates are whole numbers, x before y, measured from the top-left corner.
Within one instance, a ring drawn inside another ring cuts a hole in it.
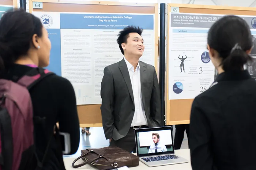
[[[215,81],[192,104],[192,168],[256,169],[256,81],[247,71],[221,73]]]

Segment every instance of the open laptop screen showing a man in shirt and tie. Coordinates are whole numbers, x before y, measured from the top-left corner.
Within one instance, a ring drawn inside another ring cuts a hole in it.
[[[172,127],[136,129],[139,157],[174,153]]]

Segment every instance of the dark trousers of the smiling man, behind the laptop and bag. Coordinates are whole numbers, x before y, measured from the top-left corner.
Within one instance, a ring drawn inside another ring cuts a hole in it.
[[[141,128],[147,128],[148,126],[142,126]],[[117,146],[128,152],[136,152],[136,143],[135,143],[135,129],[132,127],[129,129],[129,132],[124,138],[119,140],[112,139],[109,146]]]

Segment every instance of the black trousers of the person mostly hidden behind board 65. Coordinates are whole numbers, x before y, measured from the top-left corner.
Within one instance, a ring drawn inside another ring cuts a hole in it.
[[[175,125],[175,137],[174,137],[174,149],[180,149],[183,138],[184,132],[186,130],[188,136],[188,148],[189,148],[189,124],[177,124]]]

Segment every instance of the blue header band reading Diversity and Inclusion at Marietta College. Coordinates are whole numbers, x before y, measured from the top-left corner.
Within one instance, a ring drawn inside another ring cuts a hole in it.
[[[60,29],[120,30],[130,25],[154,30],[154,15],[60,14]]]

